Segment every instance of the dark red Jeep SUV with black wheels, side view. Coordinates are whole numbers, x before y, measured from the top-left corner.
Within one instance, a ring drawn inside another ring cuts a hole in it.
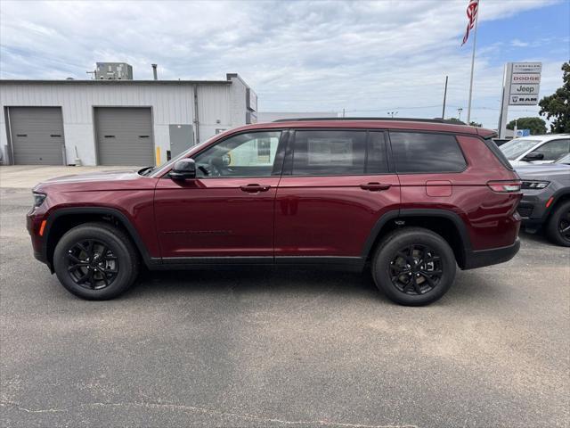
[[[437,120],[303,119],[232,129],[157,168],[55,178],[28,213],[69,292],[110,299],[149,269],[362,270],[423,305],[456,265],[518,251],[520,181],[493,131]]]

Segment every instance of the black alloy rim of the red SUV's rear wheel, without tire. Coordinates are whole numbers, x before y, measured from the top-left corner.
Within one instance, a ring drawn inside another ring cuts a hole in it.
[[[412,295],[431,292],[443,275],[441,257],[428,245],[419,244],[396,252],[388,269],[395,288]]]

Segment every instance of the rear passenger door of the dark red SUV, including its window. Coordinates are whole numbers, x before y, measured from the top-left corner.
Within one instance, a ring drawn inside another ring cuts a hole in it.
[[[358,261],[377,220],[400,202],[384,132],[297,129],[275,203],[278,263]]]

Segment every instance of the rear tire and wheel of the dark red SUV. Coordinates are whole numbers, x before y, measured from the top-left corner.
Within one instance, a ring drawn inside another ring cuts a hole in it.
[[[423,259],[428,262],[417,263]],[[452,286],[455,271],[452,248],[440,235],[422,227],[391,232],[379,243],[372,259],[376,286],[390,300],[406,306],[440,299]]]

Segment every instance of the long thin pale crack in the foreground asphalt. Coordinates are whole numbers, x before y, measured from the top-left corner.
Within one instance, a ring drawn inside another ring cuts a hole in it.
[[[12,401],[0,401],[1,407],[15,407],[18,410],[26,413],[63,413],[72,409],[83,408],[83,407],[143,407],[143,408],[159,408],[159,409],[170,409],[170,410],[180,410],[183,412],[191,413],[202,413],[209,416],[224,416],[224,417],[235,417],[238,419],[245,419],[257,423],[272,423],[272,424],[282,424],[286,426],[306,426],[306,425],[316,425],[316,426],[330,426],[330,427],[341,427],[341,428],[418,428],[417,425],[371,425],[371,424],[350,424],[343,422],[333,422],[326,420],[316,420],[316,421],[289,421],[284,419],[278,419],[274,417],[256,416],[249,414],[239,414],[233,412],[224,412],[223,410],[216,410],[208,407],[196,407],[196,406],[185,406],[178,404],[167,404],[167,403],[149,403],[149,402],[123,402],[123,403],[82,403],[76,406],[60,407],[60,408],[29,408],[23,407],[20,403]]]

